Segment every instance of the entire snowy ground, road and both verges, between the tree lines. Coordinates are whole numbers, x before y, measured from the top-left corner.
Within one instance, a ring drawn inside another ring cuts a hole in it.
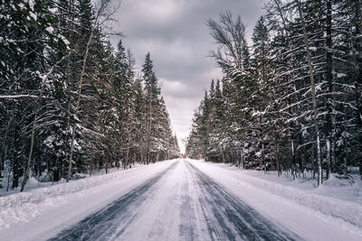
[[[173,160],[29,190],[0,198],[0,239],[361,240],[360,203],[265,179]]]

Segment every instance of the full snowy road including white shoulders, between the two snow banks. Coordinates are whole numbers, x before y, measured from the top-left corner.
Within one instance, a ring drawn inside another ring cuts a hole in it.
[[[361,240],[347,224],[233,173],[193,160],[145,166],[0,230],[0,240]]]

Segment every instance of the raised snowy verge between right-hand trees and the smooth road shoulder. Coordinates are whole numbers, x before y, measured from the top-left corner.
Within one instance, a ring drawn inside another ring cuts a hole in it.
[[[196,163],[200,162],[202,163]],[[233,177],[243,185],[266,190],[283,199],[317,210],[320,214],[339,218],[362,228],[362,181],[358,177],[352,182],[332,176],[322,186],[315,188],[315,180],[297,178],[293,181],[291,176],[283,174],[278,177],[277,173],[272,171],[266,174],[263,171],[244,171],[222,163],[205,163],[203,167],[203,170],[206,167],[215,169],[215,172]]]

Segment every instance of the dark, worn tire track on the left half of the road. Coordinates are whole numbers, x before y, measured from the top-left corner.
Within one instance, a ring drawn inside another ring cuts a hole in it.
[[[144,184],[110,203],[104,209],[91,214],[70,228],[62,230],[49,240],[109,240],[113,239],[111,236],[121,235],[137,215],[138,207],[156,192],[157,189],[153,187],[168,171],[174,170],[177,164],[178,162],[173,163],[156,177],[145,181]],[[119,229],[119,227],[122,228]]]

